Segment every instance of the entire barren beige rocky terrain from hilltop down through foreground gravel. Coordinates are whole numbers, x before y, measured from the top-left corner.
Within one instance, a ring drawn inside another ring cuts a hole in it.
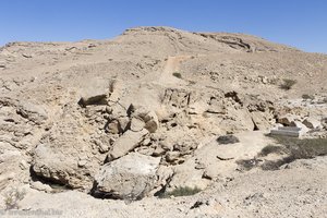
[[[111,40],[8,44],[0,75],[2,208],[55,208],[59,217],[327,213],[327,145],[276,171],[263,166],[291,155],[261,156],[278,144],[265,135],[278,125],[326,138],[325,55],[243,34],[137,27]],[[181,189],[201,192],[158,198]]]

